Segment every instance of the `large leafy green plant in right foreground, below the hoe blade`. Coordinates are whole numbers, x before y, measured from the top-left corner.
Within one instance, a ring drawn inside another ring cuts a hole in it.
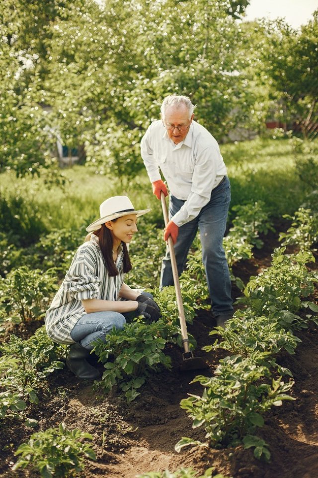
[[[266,356],[254,352],[245,359],[226,357],[220,360],[214,377],[199,375],[193,380],[203,385],[202,397],[190,394],[180,405],[193,419],[193,428],[204,426],[210,445],[237,445],[246,434],[263,426],[265,411],[282,405],[282,400],[293,400],[286,393],[293,382],[284,383],[279,377],[271,384],[260,383],[271,376]]]

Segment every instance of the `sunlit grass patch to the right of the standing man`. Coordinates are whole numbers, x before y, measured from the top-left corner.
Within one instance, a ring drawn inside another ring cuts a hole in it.
[[[304,188],[289,139],[226,144],[222,154],[231,179],[232,206],[261,200],[272,216],[279,217],[293,214],[303,202]]]

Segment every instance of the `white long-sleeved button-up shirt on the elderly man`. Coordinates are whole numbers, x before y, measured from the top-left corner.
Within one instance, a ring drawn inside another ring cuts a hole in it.
[[[198,216],[227,174],[216,139],[196,121],[178,144],[169,138],[161,120],[154,121],[141,141],[141,155],[150,181],[161,179],[161,170],[170,193],[185,200],[171,218],[179,227]]]

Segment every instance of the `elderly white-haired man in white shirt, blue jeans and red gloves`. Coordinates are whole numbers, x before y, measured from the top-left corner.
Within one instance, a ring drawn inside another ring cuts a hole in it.
[[[171,236],[178,273],[199,229],[202,260],[217,325],[233,315],[231,280],[223,249],[231,201],[230,181],[216,139],[193,120],[194,105],[186,96],[171,95],[161,105],[161,120],[154,121],[141,141],[141,155],[153,192],[170,192],[169,222],[164,240]],[[162,260],[160,287],[173,285],[168,248]]]

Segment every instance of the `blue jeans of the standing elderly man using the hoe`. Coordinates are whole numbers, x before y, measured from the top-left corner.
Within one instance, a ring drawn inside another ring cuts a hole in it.
[[[233,313],[231,279],[229,266],[223,248],[223,237],[231,201],[231,187],[228,177],[211,194],[211,199],[199,215],[179,228],[174,252],[179,275],[185,268],[187,255],[199,229],[202,244],[202,261],[215,317]],[[185,201],[170,196],[169,219],[183,206]],[[166,249],[161,264],[160,288],[173,285],[170,254]]]

